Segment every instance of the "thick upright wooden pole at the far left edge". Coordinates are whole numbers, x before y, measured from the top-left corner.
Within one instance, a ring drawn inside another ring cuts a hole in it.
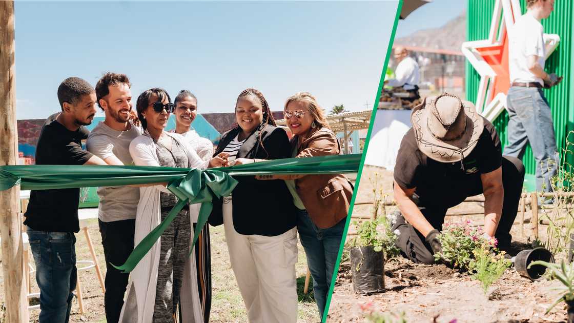
[[[0,3],[0,165],[16,165],[16,79],[14,62],[14,1]],[[0,191],[0,234],[6,322],[28,322],[20,187]]]

